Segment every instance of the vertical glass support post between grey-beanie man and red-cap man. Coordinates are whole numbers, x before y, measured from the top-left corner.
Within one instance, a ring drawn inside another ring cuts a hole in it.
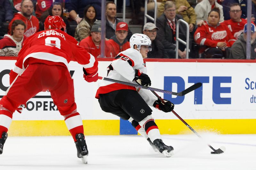
[[[101,1],[101,41],[100,41],[100,57],[106,57],[105,54],[105,38],[106,38],[106,0]]]

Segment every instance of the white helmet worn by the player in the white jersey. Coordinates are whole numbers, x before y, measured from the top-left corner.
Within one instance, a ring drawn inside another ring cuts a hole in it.
[[[145,34],[133,34],[130,38],[130,46],[134,49],[134,45],[137,45],[138,50],[140,51],[140,46],[149,46],[149,51],[152,50],[151,48],[151,40]]]

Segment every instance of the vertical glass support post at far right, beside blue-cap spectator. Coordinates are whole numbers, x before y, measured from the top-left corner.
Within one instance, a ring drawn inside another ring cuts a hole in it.
[[[252,1],[247,1],[246,59],[251,59]]]

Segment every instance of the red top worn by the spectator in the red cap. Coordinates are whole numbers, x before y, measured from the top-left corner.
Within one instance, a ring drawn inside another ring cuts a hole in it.
[[[117,40],[116,35],[111,37],[111,39],[108,42],[113,49],[113,57],[116,57],[118,53],[130,48],[130,42],[128,42],[127,39],[124,39],[124,42],[121,44]]]

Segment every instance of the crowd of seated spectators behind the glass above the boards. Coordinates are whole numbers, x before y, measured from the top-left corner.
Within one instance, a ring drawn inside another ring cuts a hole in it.
[[[148,58],[248,59],[247,36],[249,58],[256,58],[256,0],[112,0],[105,6],[101,0],[0,0],[0,56],[18,56],[24,41],[44,30],[46,17],[59,15],[94,57],[115,58],[130,48],[132,34],[143,33],[152,41]]]

